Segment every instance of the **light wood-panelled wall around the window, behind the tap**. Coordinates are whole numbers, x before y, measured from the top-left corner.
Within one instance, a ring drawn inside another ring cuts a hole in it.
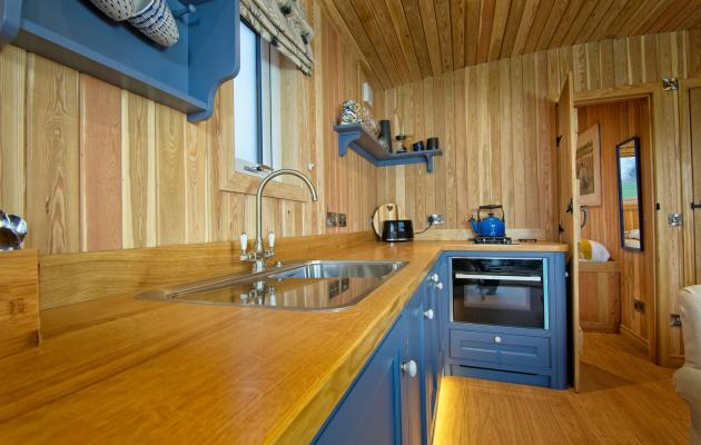
[[[314,76],[286,63],[283,136],[319,189],[319,202],[265,198],[265,230],[324,234],[325,212],[366,230],[377,172],[337,155],[332,126],[345,98],[359,98],[362,56],[320,4]],[[255,197],[220,190],[221,150],[234,149],[233,88],[214,117],[186,116],[16,47],[0,49],[0,208],[27,217],[28,247],[42,254],[235,239],[255,231]],[[374,81],[373,81],[374,82]],[[307,166],[314,165],[309,171]]]

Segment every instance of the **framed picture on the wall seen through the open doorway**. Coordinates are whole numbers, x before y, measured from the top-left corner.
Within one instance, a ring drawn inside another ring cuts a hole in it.
[[[576,138],[576,178],[580,180],[580,205],[601,206],[601,146],[599,123]]]

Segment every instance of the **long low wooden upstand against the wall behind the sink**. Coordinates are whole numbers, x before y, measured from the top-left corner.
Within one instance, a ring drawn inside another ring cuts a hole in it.
[[[315,248],[333,245],[339,249],[350,248],[368,239],[373,236],[367,231],[328,239],[323,236],[280,238],[276,251],[283,260],[309,258]],[[42,256],[41,307],[48,309],[160,284],[248,270],[250,265],[238,260],[238,243],[225,241]],[[119,266],[124,264],[130,267]]]

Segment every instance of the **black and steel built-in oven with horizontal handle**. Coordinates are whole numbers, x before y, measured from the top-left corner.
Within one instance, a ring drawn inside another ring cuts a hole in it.
[[[451,322],[547,329],[546,258],[453,258]]]

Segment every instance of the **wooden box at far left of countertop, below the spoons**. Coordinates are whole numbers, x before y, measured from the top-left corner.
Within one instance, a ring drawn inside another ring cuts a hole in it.
[[[0,358],[39,345],[39,256],[0,253]]]

